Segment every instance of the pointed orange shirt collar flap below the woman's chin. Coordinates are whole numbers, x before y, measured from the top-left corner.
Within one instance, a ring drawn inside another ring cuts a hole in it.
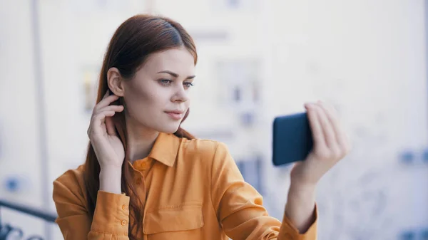
[[[171,133],[159,132],[148,157],[173,167],[182,139]]]

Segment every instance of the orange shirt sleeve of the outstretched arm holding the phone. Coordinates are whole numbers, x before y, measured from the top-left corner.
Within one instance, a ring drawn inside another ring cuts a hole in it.
[[[305,233],[300,233],[284,214],[281,221],[267,214],[263,197],[244,181],[228,148],[219,143],[211,168],[211,199],[218,222],[231,239],[315,240],[315,220]]]

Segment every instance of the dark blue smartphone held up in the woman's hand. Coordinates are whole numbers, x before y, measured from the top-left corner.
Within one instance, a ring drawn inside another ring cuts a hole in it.
[[[313,147],[307,113],[276,117],[272,144],[272,162],[275,166],[305,160]]]

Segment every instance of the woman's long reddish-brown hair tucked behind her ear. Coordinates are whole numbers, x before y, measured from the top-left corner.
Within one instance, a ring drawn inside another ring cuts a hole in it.
[[[195,43],[187,31],[177,22],[159,16],[151,15],[136,15],[126,20],[118,27],[110,43],[106,55],[104,56],[103,66],[98,82],[98,96],[96,103],[99,103],[103,98],[104,93],[108,90],[107,71],[110,68],[118,68],[121,75],[125,79],[133,78],[138,68],[140,68],[151,53],[165,51],[170,48],[185,47],[194,57],[195,64],[198,60]],[[116,103],[123,105],[123,98],[120,98]],[[124,111],[123,111],[124,112]],[[113,122],[116,127],[118,136],[120,137],[125,148],[125,160],[122,165],[121,187],[122,192],[130,196],[130,224],[129,238],[136,240],[136,233],[141,229],[143,222],[142,201],[138,197],[133,179],[131,178],[131,169],[128,167],[128,145],[127,132],[124,113],[116,113],[113,116]],[[185,113],[187,118],[189,111]],[[194,138],[193,135],[183,130],[181,127],[174,133],[178,137],[188,139]],[[99,174],[100,165],[98,163],[95,152],[91,143],[88,145],[88,152],[85,162],[85,184],[88,193],[88,210],[91,216],[95,211],[96,197],[100,187]]]

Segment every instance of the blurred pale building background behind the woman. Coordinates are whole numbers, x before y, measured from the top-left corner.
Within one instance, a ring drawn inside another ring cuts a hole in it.
[[[49,222],[52,182],[85,160],[113,32],[150,13],[180,22],[198,48],[183,127],[228,145],[269,214],[282,219],[290,172],[272,166],[272,121],[320,99],[337,108],[353,151],[317,188],[318,239],[427,240],[427,9],[422,0],[0,0],[0,203],[46,213],[0,207],[0,239],[8,229],[11,239],[62,239]]]

